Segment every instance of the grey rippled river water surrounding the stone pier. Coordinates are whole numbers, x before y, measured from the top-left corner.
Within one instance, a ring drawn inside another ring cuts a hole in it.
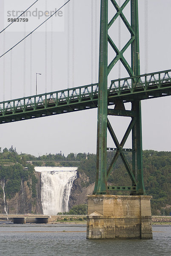
[[[3,256],[167,256],[171,226],[153,226],[152,240],[86,240],[86,225],[0,223]]]

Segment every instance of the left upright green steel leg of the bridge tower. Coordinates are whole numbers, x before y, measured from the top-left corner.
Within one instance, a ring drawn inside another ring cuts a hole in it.
[[[107,191],[108,0],[101,0],[95,194]]]

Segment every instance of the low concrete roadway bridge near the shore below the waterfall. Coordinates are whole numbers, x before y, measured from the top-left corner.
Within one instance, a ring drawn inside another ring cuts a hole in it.
[[[49,217],[48,215],[0,215],[0,219],[12,218],[14,224],[25,224],[26,222],[44,224],[48,223]]]

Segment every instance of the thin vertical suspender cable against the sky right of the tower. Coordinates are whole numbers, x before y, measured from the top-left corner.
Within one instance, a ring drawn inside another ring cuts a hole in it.
[[[148,73],[148,0],[145,0],[145,74]]]

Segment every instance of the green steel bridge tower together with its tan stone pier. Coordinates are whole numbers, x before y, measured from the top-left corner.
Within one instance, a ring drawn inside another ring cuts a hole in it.
[[[116,14],[108,22],[108,4],[116,9]],[[123,14],[123,10],[130,3],[131,24]],[[108,30],[117,17],[125,23],[130,32],[130,39],[123,49],[119,50],[110,37]],[[151,196],[145,195],[142,168],[142,125],[141,102],[131,99],[131,111],[125,110],[124,101],[114,102],[114,109],[108,108],[108,74],[118,60],[130,77],[140,75],[138,0],[125,0],[118,6],[117,0],[101,0],[100,7],[100,52],[99,52],[99,93],[97,116],[97,172],[94,195],[88,196],[87,239],[151,239]],[[108,64],[108,45],[116,55]],[[123,53],[131,45],[131,66]],[[136,81],[132,79],[131,86]],[[119,84],[120,86],[120,84]],[[120,90],[120,87],[119,87]],[[130,116],[131,122],[121,143],[117,140],[114,129],[108,119],[111,116]],[[107,129],[116,145],[116,152],[107,169]],[[124,154],[123,148],[129,134],[132,132],[132,167]],[[107,180],[114,165],[121,157],[131,178],[132,186],[108,186]],[[109,195],[110,190],[130,191],[130,195]]]

